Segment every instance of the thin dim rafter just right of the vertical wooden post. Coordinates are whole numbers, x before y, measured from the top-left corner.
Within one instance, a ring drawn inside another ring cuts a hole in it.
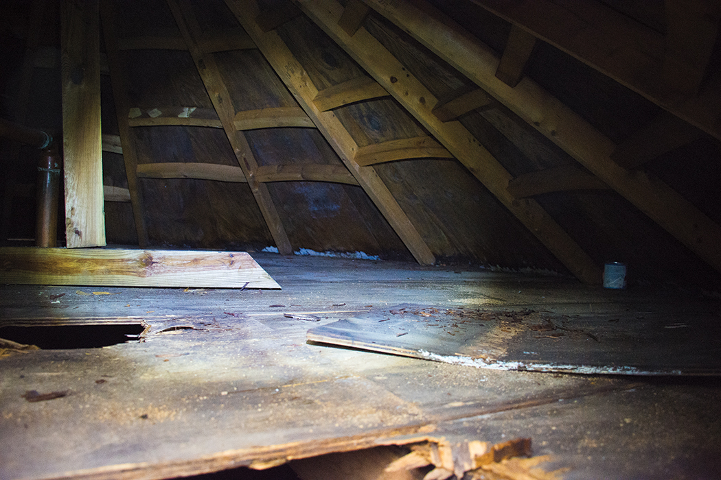
[[[135,221],[136,232],[138,233],[138,244],[141,247],[148,245],[148,230],[143,217],[143,202],[138,193],[138,180],[136,168],[138,158],[135,148],[135,137],[128,125],[128,89],[125,86],[125,78],[120,65],[120,50],[118,50],[118,36],[115,32],[115,14],[112,10],[112,1],[102,0],[100,4],[100,15],[102,17],[102,31],[105,34],[105,50],[107,52],[107,65],[110,70],[110,81],[112,82],[112,96],[115,100],[115,117],[118,119],[118,132],[120,133],[121,152],[125,163],[125,176],[128,178],[128,191],[131,194],[131,205],[133,206],[133,220]]]

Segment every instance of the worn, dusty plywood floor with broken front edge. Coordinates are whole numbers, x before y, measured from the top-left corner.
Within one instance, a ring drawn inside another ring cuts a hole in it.
[[[495,371],[306,342],[311,327],[402,303],[668,312],[689,323],[720,312],[716,300],[443,266],[254,258],[282,290],[0,287],[2,325],[149,327],[143,343],[0,358],[0,479],[160,479],[409,435],[530,437],[534,455],[570,468],[567,479],[712,478],[721,467],[714,378]],[[29,402],[27,391],[65,396]]]

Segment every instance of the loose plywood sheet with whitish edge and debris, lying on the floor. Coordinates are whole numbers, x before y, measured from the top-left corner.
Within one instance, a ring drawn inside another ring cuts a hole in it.
[[[311,328],[311,342],[459,365],[614,375],[721,375],[713,312],[565,315],[403,304]]]

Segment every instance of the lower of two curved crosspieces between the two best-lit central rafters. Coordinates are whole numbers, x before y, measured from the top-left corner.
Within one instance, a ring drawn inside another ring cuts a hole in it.
[[[407,158],[454,158],[454,156],[436,142],[435,138],[425,135],[366,145],[358,149],[353,160],[360,166],[368,166]]]

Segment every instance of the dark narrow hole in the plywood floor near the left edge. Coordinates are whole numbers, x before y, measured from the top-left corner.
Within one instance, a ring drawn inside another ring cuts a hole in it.
[[[58,325],[53,327],[1,327],[0,338],[43,350],[100,348],[137,341],[143,325]]]

